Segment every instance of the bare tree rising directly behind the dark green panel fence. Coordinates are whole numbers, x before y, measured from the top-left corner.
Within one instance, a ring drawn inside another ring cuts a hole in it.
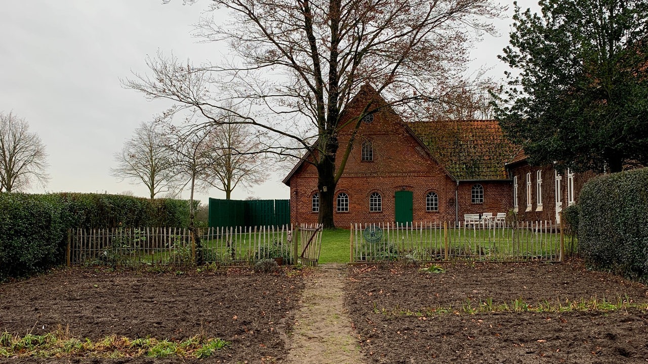
[[[249,188],[266,179],[268,159],[257,153],[263,146],[248,125],[237,124],[234,115],[226,114],[223,120],[209,136],[219,157],[207,173],[213,176],[209,183],[230,199],[237,186]]]

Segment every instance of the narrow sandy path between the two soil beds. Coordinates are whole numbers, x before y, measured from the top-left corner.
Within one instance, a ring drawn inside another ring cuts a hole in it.
[[[345,264],[322,264],[307,277],[289,339],[288,362],[360,364],[362,354],[344,308]]]

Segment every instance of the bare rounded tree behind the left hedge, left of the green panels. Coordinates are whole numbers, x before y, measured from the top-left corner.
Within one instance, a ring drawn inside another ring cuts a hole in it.
[[[124,147],[115,153],[117,168],[110,174],[120,181],[143,183],[151,199],[156,194],[170,192],[174,186],[171,152],[165,145],[165,136],[155,121],[142,122]]]

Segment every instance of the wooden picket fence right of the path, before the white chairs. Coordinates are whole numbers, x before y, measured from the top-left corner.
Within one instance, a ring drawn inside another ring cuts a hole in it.
[[[555,222],[419,222],[351,224],[351,262],[472,260],[561,262],[564,238]]]

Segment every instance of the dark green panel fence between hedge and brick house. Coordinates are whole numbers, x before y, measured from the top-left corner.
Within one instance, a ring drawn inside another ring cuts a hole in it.
[[[209,227],[281,226],[290,224],[289,199],[209,199]]]

